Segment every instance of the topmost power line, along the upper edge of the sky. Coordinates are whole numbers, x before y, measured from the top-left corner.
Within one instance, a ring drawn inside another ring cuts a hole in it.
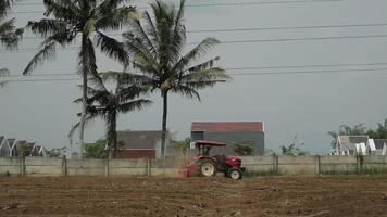
[[[255,1],[255,2],[228,2],[228,3],[200,3],[186,4],[186,8],[204,8],[204,7],[236,7],[236,5],[262,5],[262,4],[289,4],[289,3],[315,3],[315,2],[338,2],[344,0],[289,0],[289,1]],[[14,3],[13,5],[38,5],[42,3]],[[138,9],[149,9],[149,7],[139,7]],[[45,11],[20,11],[10,12],[13,14],[21,13],[45,13]]]

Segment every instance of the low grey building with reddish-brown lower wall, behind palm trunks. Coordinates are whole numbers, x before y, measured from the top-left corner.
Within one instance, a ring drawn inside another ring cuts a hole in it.
[[[124,146],[117,153],[122,158],[160,158],[161,130],[117,131],[117,140]],[[170,136],[166,136],[166,153],[170,148]]]

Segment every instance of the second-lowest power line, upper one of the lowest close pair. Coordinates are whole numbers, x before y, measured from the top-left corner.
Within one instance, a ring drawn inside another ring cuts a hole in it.
[[[260,71],[260,69],[289,69],[289,68],[322,68],[322,67],[349,67],[349,66],[383,66],[387,65],[387,62],[380,63],[339,63],[339,64],[315,64],[315,65],[282,65],[282,66],[250,66],[250,67],[226,67],[225,71]],[[366,68],[365,68],[366,69]],[[372,68],[374,69],[374,68]],[[376,68],[379,69],[379,68]],[[362,71],[350,69],[350,71]],[[308,71],[309,72],[309,71]],[[278,72],[280,73],[280,72]],[[276,74],[278,74],[276,73]],[[239,74],[238,74],[239,75]],[[49,77],[49,76],[78,76],[76,73],[39,73],[32,75],[9,75],[8,78],[14,77]]]

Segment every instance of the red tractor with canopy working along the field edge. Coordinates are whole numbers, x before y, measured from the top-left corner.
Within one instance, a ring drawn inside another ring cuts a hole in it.
[[[225,177],[232,179],[241,179],[245,167],[241,167],[241,159],[237,156],[210,155],[210,150],[215,146],[225,146],[226,143],[213,141],[197,141],[195,146],[198,155],[192,157],[190,163],[180,169],[184,177],[190,176],[216,176],[217,173],[224,173]]]

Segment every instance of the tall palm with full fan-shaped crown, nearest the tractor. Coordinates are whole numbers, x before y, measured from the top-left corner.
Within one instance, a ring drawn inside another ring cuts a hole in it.
[[[200,95],[197,90],[213,87],[229,77],[225,71],[214,67],[219,58],[199,62],[205,52],[219,41],[205,38],[188,53],[184,25],[184,4],[178,10],[161,0],[151,3],[152,16],[145,12],[142,20],[130,21],[129,30],[123,34],[125,46],[134,56],[134,67],[148,75],[153,89],[159,89],[163,99],[161,154],[165,156],[167,97],[170,92],[189,98]]]

